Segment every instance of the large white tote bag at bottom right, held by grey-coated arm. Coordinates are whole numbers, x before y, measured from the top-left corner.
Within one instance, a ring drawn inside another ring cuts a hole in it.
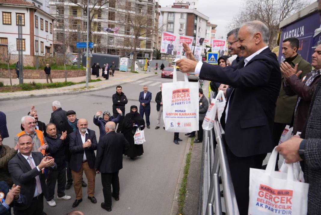
[[[307,214],[309,184],[294,180],[292,164],[287,173],[274,171],[276,156],[274,148],[265,170],[250,168],[248,214]]]

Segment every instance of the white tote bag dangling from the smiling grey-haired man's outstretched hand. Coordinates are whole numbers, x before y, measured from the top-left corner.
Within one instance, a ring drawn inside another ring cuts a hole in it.
[[[162,84],[163,120],[165,130],[192,132],[198,130],[198,83],[177,81],[176,65],[173,68],[173,83]]]

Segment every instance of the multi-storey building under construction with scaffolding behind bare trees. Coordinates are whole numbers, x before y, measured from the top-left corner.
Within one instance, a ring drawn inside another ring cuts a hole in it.
[[[86,41],[87,12],[83,10],[84,5],[77,0],[52,0],[49,5],[50,14],[57,19],[54,25],[55,50],[61,49],[65,32],[67,52],[76,54],[76,43]],[[117,0],[106,3],[90,0],[89,9],[92,20],[89,40],[94,42],[92,52],[129,56],[134,49],[135,35],[142,35],[136,41],[136,57],[144,58],[145,54],[152,57],[158,35],[155,31],[160,14],[158,1]]]

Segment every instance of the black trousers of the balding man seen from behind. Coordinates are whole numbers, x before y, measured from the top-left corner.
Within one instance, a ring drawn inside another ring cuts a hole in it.
[[[102,192],[106,207],[111,207],[111,185],[113,186],[113,196],[119,197],[119,177],[118,173],[101,173]]]

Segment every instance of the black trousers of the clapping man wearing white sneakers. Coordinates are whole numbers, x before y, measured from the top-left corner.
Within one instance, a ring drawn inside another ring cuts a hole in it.
[[[56,182],[57,182],[58,197],[65,196],[66,168],[49,171],[48,177],[47,177],[47,187],[48,187],[48,197],[46,197],[47,201],[54,199]]]

